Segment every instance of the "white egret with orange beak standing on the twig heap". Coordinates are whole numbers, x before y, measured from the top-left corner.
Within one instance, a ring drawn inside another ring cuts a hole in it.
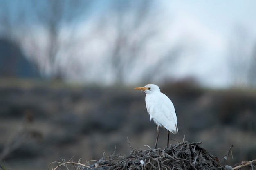
[[[157,125],[157,139],[155,141],[155,149],[159,137],[159,127],[163,126],[168,130],[167,148],[169,147],[170,132],[178,133],[177,116],[175,108],[171,100],[163,93],[157,85],[147,84],[144,87],[137,87],[136,90],[146,92],[146,108],[150,116],[150,121],[153,119]]]

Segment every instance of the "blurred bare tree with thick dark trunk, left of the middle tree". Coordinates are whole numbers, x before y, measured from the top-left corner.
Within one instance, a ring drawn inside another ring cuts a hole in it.
[[[90,0],[21,1],[16,5],[0,2],[1,35],[23,48],[41,74],[63,78],[63,55],[71,57],[79,38],[77,22],[86,18]],[[10,5],[17,6],[10,7]],[[30,5],[30,6],[29,6]],[[16,26],[19,27],[18,31]],[[64,30],[68,27],[68,30]],[[41,29],[38,34],[38,29]],[[66,60],[72,58],[66,57]],[[68,59],[67,59],[68,58]],[[70,61],[72,63],[72,61]]]

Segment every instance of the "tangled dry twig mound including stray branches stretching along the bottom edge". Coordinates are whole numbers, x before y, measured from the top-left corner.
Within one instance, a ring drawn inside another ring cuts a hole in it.
[[[129,141],[128,144],[130,145]],[[58,163],[58,166],[52,168],[52,170],[61,170],[61,167],[66,169],[72,167],[75,170],[232,170],[247,166],[256,167],[256,160],[241,163],[234,168],[223,165],[224,161],[228,159],[233,146],[231,146],[223,159],[219,160],[202,148],[200,144],[202,142],[189,143],[184,141],[171,145],[164,150],[150,147],[148,147],[148,150],[138,150],[130,145],[132,150],[128,157],[117,156],[115,152],[111,156],[106,156],[104,153],[99,161],[92,160],[96,163],[91,165],[91,161],[81,164],[80,160],[78,163],[62,160],[62,162],[53,162],[50,166]]]

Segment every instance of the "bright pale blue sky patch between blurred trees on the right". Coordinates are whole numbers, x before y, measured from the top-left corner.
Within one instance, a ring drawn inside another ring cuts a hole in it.
[[[255,7],[254,0],[164,1],[162,8],[172,16],[175,34],[186,34],[199,46],[195,56],[187,57],[177,66],[179,73],[192,74],[207,86],[229,86],[228,45],[236,36],[237,25],[247,31],[249,42],[256,42]]]

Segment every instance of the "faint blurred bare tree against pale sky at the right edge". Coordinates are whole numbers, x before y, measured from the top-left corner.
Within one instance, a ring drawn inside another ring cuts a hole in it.
[[[256,87],[256,45],[249,31],[236,25],[229,45],[229,68],[234,87]],[[255,40],[254,40],[255,41]]]

